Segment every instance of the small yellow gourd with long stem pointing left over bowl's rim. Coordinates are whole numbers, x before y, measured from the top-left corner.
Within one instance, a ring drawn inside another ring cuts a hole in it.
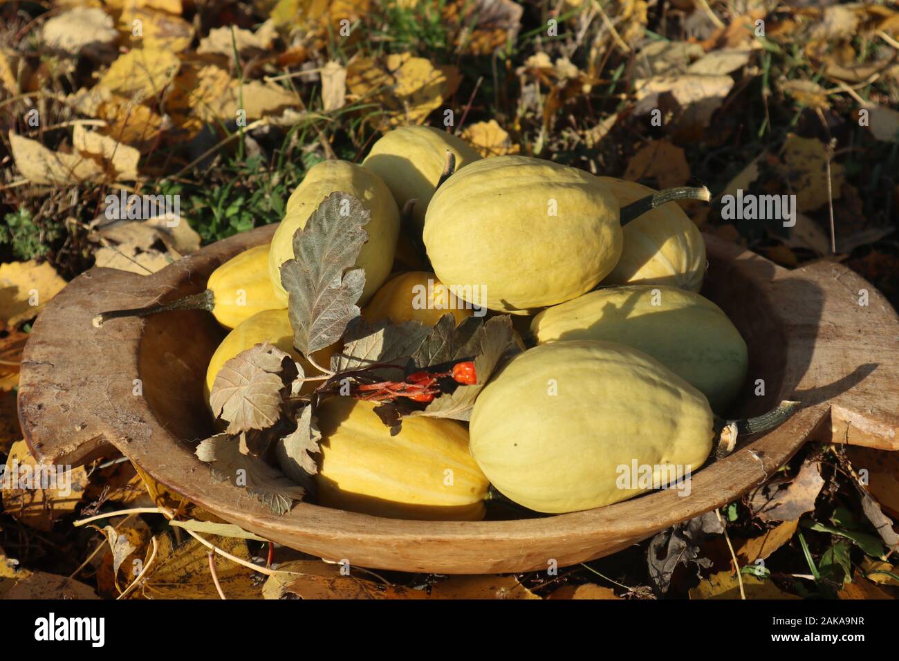
[[[94,326],[118,317],[147,317],[158,312],[203,309],[219,324],[235,328],[257,312],[287,308],[287,295],[271,286],[269,250],[271,245],[254,246],[235,255],[209,275],[206,290],[167,303],[102,312],[93,318]]]

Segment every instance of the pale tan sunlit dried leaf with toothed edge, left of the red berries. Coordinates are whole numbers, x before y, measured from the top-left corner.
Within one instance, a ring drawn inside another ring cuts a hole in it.
[[[278,422],[281,410],[280,376],[288,353],[263,342],[238,353],[222,365],[212,383],[212,413],[229,423],[227,433],[267,429]]]

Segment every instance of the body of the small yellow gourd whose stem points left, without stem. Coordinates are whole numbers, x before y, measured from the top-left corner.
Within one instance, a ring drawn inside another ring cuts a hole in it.
[[[287,308],[287,297],[271,286],[269,248],[265,244],[245,250],[209,275],[212,314],[222,326],[234,328],[257,312]]]

